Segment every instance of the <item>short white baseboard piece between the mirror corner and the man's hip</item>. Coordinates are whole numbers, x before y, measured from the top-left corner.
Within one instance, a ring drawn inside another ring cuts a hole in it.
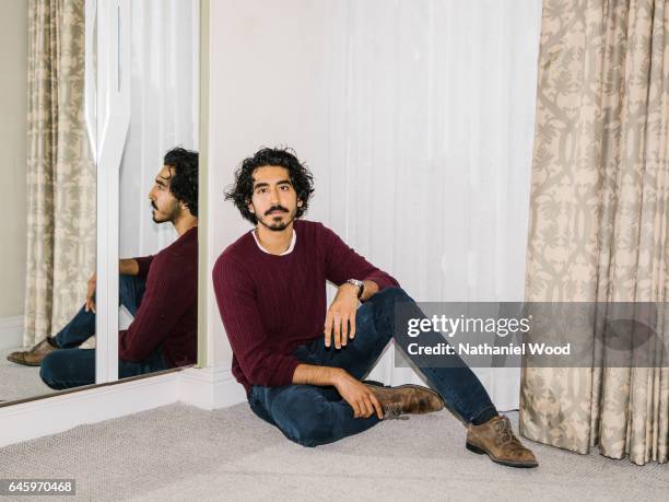
[[[246,393],[230,369],[188,369],[180,373],[179,400],[214,410],[246,401]]]

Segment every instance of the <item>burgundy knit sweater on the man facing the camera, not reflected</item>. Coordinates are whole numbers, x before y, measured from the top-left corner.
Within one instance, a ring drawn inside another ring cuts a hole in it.
[[[219,257],[213,282],[234,357],[233,374],[250,385],[291,384],[297,346],[321,338],[326,280],[371,280],[398,285],[320,223],[295,221],[297,242],[287,255],[263,253],[250,233]]]

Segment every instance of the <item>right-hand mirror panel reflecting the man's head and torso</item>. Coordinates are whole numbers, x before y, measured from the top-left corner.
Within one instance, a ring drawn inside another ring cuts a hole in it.
[[[198,150],[199,0],[130,2],[130,16],[118,248],[120,258],[154,258],[150,270],[140,260],[141,278],[119,277],[121,328],[134,314],[136,289],[145,290],[134,325],[119,338],[119,377],[197,362],[198,157],[191,152]]]

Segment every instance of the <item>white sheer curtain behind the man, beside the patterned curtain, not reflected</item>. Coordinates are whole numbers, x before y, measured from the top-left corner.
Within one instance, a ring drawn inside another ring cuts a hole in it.
[[[351,0],[330,14],[308,218],[416,301],[523,301],[541,1]],[[518,407],[519,370],[476,372],[500,409]],[[392,350],[372,376],[420,382]]]

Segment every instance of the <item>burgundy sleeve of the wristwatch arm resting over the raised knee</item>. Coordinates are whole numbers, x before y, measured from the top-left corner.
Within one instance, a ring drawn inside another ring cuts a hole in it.
[[[322,225],[321,229],[325,232],[326,279],[337,285],[341,285],[349,279],[374,281],[379,291],[385,288],[399,287],[394,277],[355,253],[330,229]]]

